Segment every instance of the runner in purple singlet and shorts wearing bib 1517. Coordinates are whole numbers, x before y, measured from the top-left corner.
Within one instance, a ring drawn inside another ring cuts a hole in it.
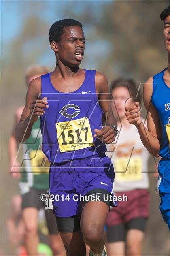
[[[16,137],[20,142],[28,139],[41,116],[43,152],[52,162],[53,212],[67,255],[84,256],[86,243],[90,255],[103,256],[110,201],[116,205],[109,197],[114,170],[104,151],[105,143],[113,142],[118,132],[108,102],[107,79],[95,70],[79,68],[85,49],[79,21],[55,22],[49,41],[56,68],[30,83]]]

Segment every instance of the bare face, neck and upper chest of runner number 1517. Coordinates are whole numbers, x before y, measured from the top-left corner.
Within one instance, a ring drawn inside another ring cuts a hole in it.
[[[78,26],[64,28],[60,42],[52,42],[51,49],[55,52],[57,64],[51,74],[51,81],[60,92],[73,92],[84,81],[85,72],[79,68],[83,60],[85,36]],[[69,83],[68,83],[69,79]]]

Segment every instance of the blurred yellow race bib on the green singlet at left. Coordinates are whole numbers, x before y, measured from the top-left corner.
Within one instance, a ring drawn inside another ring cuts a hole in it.
[[[34,175],[49,173],[50,162],[41,150],[30,151],[30,162]]]

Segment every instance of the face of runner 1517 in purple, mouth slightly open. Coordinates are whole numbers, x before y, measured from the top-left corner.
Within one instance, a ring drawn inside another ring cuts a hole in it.
[[[58,46],[58,57],[65,66],[77,67],[81,64],[85,49],[85,36],[79,26],[64,28]]]

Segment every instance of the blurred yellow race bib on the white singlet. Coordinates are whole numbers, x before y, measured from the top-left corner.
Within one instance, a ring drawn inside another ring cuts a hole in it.
[[[142,159],[131,157],[117,158],[115,161],[116,179],[118,181],[139,181],[142,179]]]

